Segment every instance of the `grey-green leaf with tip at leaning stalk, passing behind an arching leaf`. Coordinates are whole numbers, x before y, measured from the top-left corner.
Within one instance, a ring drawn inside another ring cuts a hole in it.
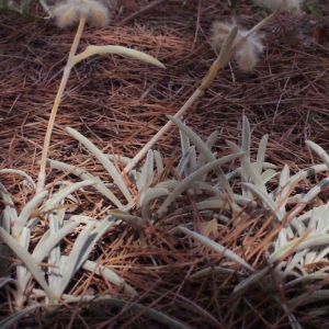
[[[186,125],[184,125],[180,120],[168,115],[168,117],[181,129],[184,132],[184,134],[188,135],[188,137],[194,143],[194,145],[197,147],[197,149],[204,154],[204,156],[206,157],[206,160],[208,162],[214,161],[216,159],[216,157],[213,155],[213,152],[209,150],[209,148],[202,141],[202,139],[191,129],[189,128]],[[217,167],[214,169],[215,173],[217,174],[217,177],[220,180],[220,183],[223,184],[224,189],[226,190],[226,192],[228,193],[229,196],[232,196],[232,190],[222,170],[220,167]]]

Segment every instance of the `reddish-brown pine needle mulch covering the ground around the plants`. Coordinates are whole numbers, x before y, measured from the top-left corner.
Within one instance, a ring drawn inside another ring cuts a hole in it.
[[[260,21],[245,4],[232,12],[226,1],[177,0],[163,1],[123,23],[147,4],[147,1],[120,1],[110,26],[97,30],[87,26],[80,49],[88,44],[132,47],[157,57],[167,69],[110,55],[80,63],[56,117],[49,158],[83,166],[106,181],[102,166],[65,127],[73,127],[102,150],[134,157],[167,123],[166,115],[173,115],[185,103],[215,60],[209,44],[212,22],[231,21],[234,15],[238,23],[250,29]],[[254,71],[242,73],[235,63],[219,71],[206,94],[185,115],[186,124],[203,139],[218,129],[215,150],[227,155],[225,140],[240,141],[241,118],[246,115],[254,149],[264,134],[270,135],[268,162],[279,167],[288,164],[292,171],[319,163],[305,140],[329,150],[328,35],[320,35],[317,42],[313,37],[322,23],[314,15],[280,15],[264,29],[266,52]],[[58,30],[53,21],[32,22],[4,15],[0,16],[0,169],[21,169],[36,179],[36,161],[41,158],[47,120],[75,29]],[[170,171],[170,163],[180,151],[178,129],[172,128],[154,149],[168,158]],[[64,179],[69,178],[53,170],[47,183],[52,185]],[[18,208],[23,207],[31,195],[21,189],[20,179],[1,174],[1,182],[14,195]],[[326,191],[320,194],[324,202],[327,194]],[[111,206],[91,192],[79,197],[79,209],[86,215],[104,218]],[[193,202],[191,198],[192,205]],[[287,316],[257,288],[247,297],[231,299],[239,280],[236,275],[191,279],[191,274],[207,266],[231,265],[220,254],[190,239],[169,235],[169,229],[179,223],[193,228],[193,223],[205,220],[194,212],[190,218],[179,218],[175,223],[149,223],[144,248],[135,243],[135,232],[126,225],[111,229],[91,258],[134,286],[139,294],[137,300],[132,299],[124,308],[95,305],[94,309],[77,311],[67,307],[50,319],[47,328],[61,328],[72,319],[71,328],[166,328],[149,320],[144,315],[147,310],[131,313],[134,303],[163,311],[192,328],[287,326]],[[243,225],[252,227],[253,223],[246,218]],[[263,250],[257,238],[263,236],[239,236],[240,229],[229,223],[212,238],[241,257],[254,249],[252,261],[257,264]],[[66,248],[70,248],[67,242]],[[70,290],[68,293],[77,296],[92,292],[129,300],[122,287],[83,271],[73,279]],[[1,316],[9,309],[2,307]],[[321,322],[317,317],[304,319],[303,311],[298,311],[299,322],[305,321],[307,328],[324,328],[324,319]]]

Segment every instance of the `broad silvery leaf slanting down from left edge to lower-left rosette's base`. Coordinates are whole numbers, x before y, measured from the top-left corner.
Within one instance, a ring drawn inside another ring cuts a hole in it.
[[[50,291],[48,284],[46,283],[44,279],[44,274],[39,269],[38,263],[35,261],[35,259],[29,253],[29,251],[26,251],[22,246],[20,246],[20,243],[14,238],[12,238],[2,227],[0,227],[0,237],[4,241],[4,243],[7,243],[7,246],[9,246],[10,249],[13,252],[15,252],[18,257],[24,262],[24,264],[33,274],[35,280],[46,292],[49,298],[49,304],[55,304],[53,292]]]

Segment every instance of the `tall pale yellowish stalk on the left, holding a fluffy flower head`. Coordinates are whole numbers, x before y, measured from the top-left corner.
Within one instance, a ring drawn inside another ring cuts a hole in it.
[[[75,41],[72,43],[70,53],[69,53],[69,57],[67,60],[67,65],[64,69],[64,75],[60,81],[60,86],[52,109],[52,113],[50,113],[50,117],[48,121],[48,127],[47,127],[47,132],[46,132],[46,137],[44,140],[44,148],[43,148],[43,154],[42,154],[42,160],[41,160],[41,168],[39,168],[39,173],[38,173],[38,179],[37,179],[37,186],[36,186],[36,193],[41,192],[44,186],[45,186],[45,180],[46,180],[46,164],[47,164],[47,156],[48,156],[48,150],[49,150],[49,145],[50,145],[50,137],[52,137],[52,133],[53,133],[53,128],[54,128],[54,124],[55,124],[55,117],[57,114],[57,110],[59,107],[59,103],[60,100],[63,98],[63,93],[66,87],[66,83],[68,81],[69,75],[71,72],[71,69],[73,67],[72,64],[72,59],[75,58],[75,54],[78,49],[79,46],[79,42],[82,35],[82,31],[84,27],[84,23],[86,23],[86,15],[81,15],[80,18],[80,23],[79,23],[79,27],[78,31],[76,33],[76,37]]]

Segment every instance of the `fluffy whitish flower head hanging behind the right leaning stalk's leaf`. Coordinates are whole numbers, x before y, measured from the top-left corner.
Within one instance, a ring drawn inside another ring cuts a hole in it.
[[[212,42],[215,48],[219,49],[223,46],[227,34],[234,27],[234,25],[235,24],[227,24],[222,22],[214,23]],[[234,46],[239,43],[241,38],[245,38],[248,32],[249,31],[239,29]],[[241,46],[234,54],[235,60],[243,72],[249,72],[256,67],[258,57],[264,49],[261,39],[262,35],[253,33],[245,39]]]

